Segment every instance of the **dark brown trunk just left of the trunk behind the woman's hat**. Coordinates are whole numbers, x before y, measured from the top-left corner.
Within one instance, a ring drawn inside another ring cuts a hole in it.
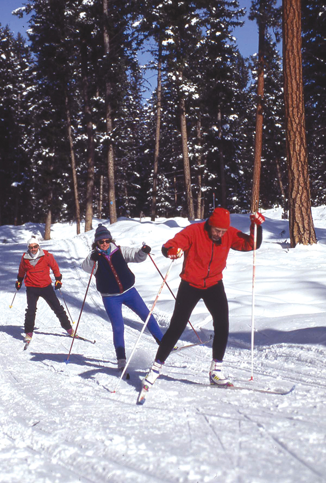
[[[93,194],[94,194],[94,132],[91,108],[88,99],[88,77],[87,77],[87,43],[82,38],[81,45],[81,71],[84,98],[84,114],[87,132],[87,184],[86,184],[86,213],[85,213],[85,232],[92,229],[93,218]]]

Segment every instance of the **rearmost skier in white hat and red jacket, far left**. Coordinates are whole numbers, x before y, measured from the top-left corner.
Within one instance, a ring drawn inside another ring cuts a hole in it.
[[[15,283],[16,290],[21,288],[21,282],[25,278],[27,309],[25,315],[25,342],[30,342],[33,336],[35,325],[36,304],[39,297],[42,297],[58,317],[61,327],[71,336],[74,335],[73,328],[63,306],[60,305],[56,296],[50,277],[50,269],[55,276],[55,289],[62,287],[62,275],[54,256],[46,250],[42,250],[36,241],[31,238],[27,242],[28,250],[24,253],[20,260],[17,281]]]

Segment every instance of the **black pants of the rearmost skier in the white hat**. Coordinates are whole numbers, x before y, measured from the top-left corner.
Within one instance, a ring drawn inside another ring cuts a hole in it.
[[[61,327],[64,330],[69,330],[72,328],[71,323],[65,313],[63,306],[60,305],[58,297],[56,296],[52,285],[48,285],[48,287],[26,287],[26,296],[27,296],[27,309],[25,314],[25,333],[33,332],[34,325],[35,325],[35,315],[37,311],[37,301],[39,297],[42,297],[46,303],[48,303],[50,309],[58,317]]]

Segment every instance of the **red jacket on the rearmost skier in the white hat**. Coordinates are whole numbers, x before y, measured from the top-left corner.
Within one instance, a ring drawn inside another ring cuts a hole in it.
[[[41,249],[41,256],[35,267],[30,263],[30,259],[29,254],[24,253],[18,269],[18,277],[20,279],[25,277],[26,287],[48,287],[48,285],[51,285],[50,268],[55,277],[60,277],[60,270],[52,253]]]

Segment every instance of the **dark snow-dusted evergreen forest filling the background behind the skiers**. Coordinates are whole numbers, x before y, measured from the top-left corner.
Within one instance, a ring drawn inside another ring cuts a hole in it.
[[[295,2],[294,2],[295,3]],[[34,0],[27,36],[0,28],[0,224],[289,210],[282,7],[253,0],[259,52],[234,31],[241,0]],[[309,203],[325,204],[326,9],[302,0]],[[283,27],[284,30],[284,27]],[[263,32],[263,35],[262,35]],[[139,52],[150,60],[139,64]],[[259,71],[264,90],[259,94]],[[157,85],[146,99],[148,69]],[[302,170],[302,169],[301,169]],[[293,188],[291,188],[293,191]],[[308,208],[310,208],[308,206]]]

